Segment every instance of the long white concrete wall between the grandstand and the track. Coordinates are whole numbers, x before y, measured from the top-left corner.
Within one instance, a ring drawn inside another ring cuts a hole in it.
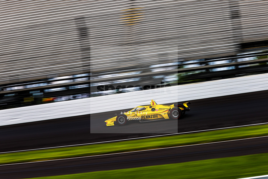
[[[0,110],[0,126],[268,90],[268,73]]]

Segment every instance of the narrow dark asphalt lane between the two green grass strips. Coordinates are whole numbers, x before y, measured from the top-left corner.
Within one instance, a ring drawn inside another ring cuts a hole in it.
[[[1,179],[32,178],[268,152],[268,137],[114,155],[0,166]],[[185,171],[187,172],[187,171]]]

